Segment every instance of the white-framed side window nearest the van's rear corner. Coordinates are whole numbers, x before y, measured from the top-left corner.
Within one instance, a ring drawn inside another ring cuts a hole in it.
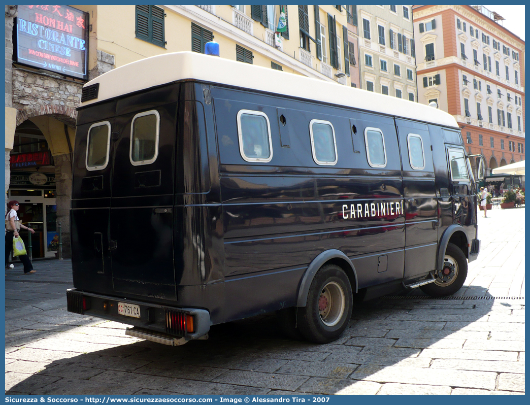
[[[261,111],[237,113],[237,136],[241,157],[247,162],[270,162],[272,141],[267,115]]]

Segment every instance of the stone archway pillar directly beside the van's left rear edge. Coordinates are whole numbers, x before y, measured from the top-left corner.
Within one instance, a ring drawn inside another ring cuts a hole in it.
[[[69,259],[72,257],[72,248],[70,247],[70,201],[72,200],[72,166],[70,165],[70,155],[55,155],[54,161],[57,222],[61,222],[63,258]]]

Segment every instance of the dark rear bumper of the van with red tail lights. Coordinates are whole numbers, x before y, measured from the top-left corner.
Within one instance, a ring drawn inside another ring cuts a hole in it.
[[[210,330],[210,313],[207,310],[172,307],[127,300],[126,298],[85,293],[75,288],[66,290],[66,300],[69,312],[97,316],[98,318],[114,322],[134,325],[138,328],[170,334],[185,340],[199,339]],[[120,302],[138,305],[139,318],[119,314],[118,303]],[[189,318],[187,318],[187,315],[193,317],[193,328],[188,327],[189,322],[186,320]]]

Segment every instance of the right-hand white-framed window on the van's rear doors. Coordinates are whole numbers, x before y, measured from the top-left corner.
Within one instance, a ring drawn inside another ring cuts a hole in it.
[[[140,112],[131,124],[129,158],[133,165],[150,164],[158,155],[158,132],[160,115],[158,111]]]

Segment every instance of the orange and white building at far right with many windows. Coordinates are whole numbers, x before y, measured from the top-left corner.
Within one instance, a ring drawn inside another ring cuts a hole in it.
[[[488,174],[525,159],[525,42],[483,6],[414,6],[419,102],[462,128]]]

